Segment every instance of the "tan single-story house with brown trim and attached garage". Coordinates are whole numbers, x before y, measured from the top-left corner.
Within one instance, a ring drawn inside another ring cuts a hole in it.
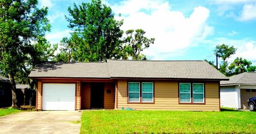
[[[205,61],[43,62],[36,110],[118,109],[220,111],[220,81]]]

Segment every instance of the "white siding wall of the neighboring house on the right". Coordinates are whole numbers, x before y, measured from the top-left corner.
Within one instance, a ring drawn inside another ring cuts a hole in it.
[[[238,94],[236,86],[220,87],[220,106],[238,109]]]

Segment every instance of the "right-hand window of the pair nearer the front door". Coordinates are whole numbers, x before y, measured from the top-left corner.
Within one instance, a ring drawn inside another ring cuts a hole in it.
[[[142,83],[142,102],[153,102],[153,83]]]

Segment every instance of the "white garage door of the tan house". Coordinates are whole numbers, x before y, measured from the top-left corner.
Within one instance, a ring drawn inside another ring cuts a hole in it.
[[[75,110],[75,84],[43,84],[43,110]]]

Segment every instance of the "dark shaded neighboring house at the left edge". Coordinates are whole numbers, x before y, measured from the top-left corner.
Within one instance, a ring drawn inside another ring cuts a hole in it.
[[[9,78],[0,76],[0,108],[12,105],[12,91]]]

